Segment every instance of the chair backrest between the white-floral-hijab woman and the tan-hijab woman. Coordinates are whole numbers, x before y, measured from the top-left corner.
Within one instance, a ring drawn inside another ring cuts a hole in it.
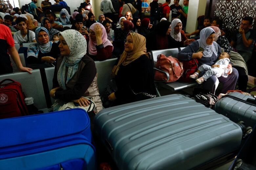
[[[96,69],[97,69],[97,84],[99,88],[99,94],[102,95],[104,92],[104,89],[111,85],[112,88],[115,89],[115,83],[113,83],[111,72],[112,69],[117,61],[117,58],[115,59],[107,59],[104,61],[95,61]]]

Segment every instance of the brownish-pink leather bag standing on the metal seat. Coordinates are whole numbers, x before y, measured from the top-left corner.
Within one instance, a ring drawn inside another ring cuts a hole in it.
[[[163,54],[160,54],[157,57],[156,68],[169,73],[169,79],[167,80],[166,74],[160,71],[156,71],[155,80],[157,81],[165,80],[166,82],[174,82],[174,81],[177,81],[183,73],[183,67],[182,67],[181,61],[179,61],[178,59],[172,56],[165,57],[165,55]]]

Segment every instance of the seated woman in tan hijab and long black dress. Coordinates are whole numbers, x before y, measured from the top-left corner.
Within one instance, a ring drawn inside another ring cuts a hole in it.
[[[117,91],[108,98],[115,105],[156,97],[153,68],[146,56],[145,37],[129,32],[124,52],[114,66],[112,76],[116,79]]]

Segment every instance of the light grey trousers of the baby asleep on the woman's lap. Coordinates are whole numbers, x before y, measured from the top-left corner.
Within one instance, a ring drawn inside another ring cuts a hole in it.
[[[198,68],[198,70],[200,72],[206,71],[202,77],[203,77],[204,80],[207,80],[212,75],[215,75],[216,77],[220,77],[222,75],[222,70],[223,69],[221,69],[221,68],[212,68],[209,65],[203,64]]]

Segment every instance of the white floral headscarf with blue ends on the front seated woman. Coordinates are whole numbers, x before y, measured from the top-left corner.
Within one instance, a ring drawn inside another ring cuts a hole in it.
[[[84,36],[74,29],[68,29],[60,32],[59,36],[64,38],[70,49],[70,54],[68,56],[64,56],[57,73],[57,80],[60,87],[63,90],[66,90],[66,83],[68,83],[69,80],[75,75],[76,71],[78,70],[80,60],[86,54],[87,43]],[[68,67],[68,75],[65,83],[66,67]]]

